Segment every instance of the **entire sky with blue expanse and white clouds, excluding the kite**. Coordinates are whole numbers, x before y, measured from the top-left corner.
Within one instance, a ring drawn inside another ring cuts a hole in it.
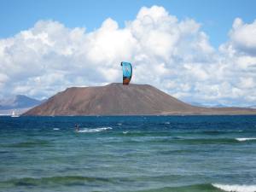
[[[256,105],[256,1],[0,1],[0,98],[152,84],[185,102]]]

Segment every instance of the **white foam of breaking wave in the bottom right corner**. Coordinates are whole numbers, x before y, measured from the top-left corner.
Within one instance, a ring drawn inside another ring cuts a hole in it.
[[[256,185],[212,183],[212,186],[228,192],[255,192],[256,191]]]

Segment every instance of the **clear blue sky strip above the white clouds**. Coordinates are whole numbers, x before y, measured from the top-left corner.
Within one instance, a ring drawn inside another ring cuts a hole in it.
[[[111,17],[124,26],[125,20],[133,20],[139,9],[152,5],[165,7],[178,19],[193,18],[201,23],[214,47],[227,39],[236,17],[252,22],[256,13],[253,0],[1,0],[0,38],[26,30],[38,20],[58,20],[68,27],[81,26],[93,31]]]

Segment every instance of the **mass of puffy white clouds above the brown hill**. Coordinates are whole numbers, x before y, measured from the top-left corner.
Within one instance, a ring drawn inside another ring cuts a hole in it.
[[[215,49],[200,23],[159,6],[143,7],[123,28],[111,18],[93,32],[39,20],[0,39],[0,96],[44,98],[70,86],[121,82],[120,61],[131,61],[131,83],[186,102],[256,103],[256,20],[235,18],[229,39]]]

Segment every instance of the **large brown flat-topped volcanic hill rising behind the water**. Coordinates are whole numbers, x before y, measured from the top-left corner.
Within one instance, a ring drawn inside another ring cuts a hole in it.
[[[72,87],[23,115],[256,114],[253,108],[205,108],[187,104],[148,84]]]

